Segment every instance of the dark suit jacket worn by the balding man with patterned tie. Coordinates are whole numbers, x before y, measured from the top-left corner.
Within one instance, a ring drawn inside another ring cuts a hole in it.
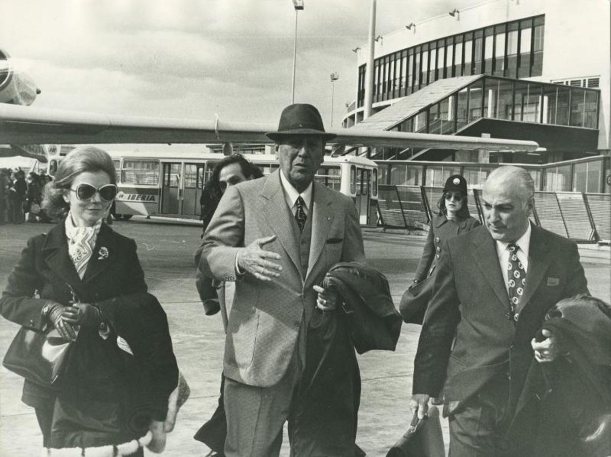
[[[535,226],[525,306],[517,323],[505,317],[510,305],[502,274],[495,241],[485,227],[447,241],[420,333],[414,393],[437,396],[445,381],[446,400],[466,401],[506,374],[510,399],[517,400],[533,359],[530,340],[547,310],[588,291],[576,243]]]

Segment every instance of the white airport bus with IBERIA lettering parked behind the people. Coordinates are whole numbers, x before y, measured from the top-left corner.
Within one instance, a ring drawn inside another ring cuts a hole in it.
[[[134,214],[199,219],[203,185],[224,157],[214,152],[108,153],[114,161],[119,186],[114,216],[124,220]],[[244,156],[266,175],[279,167],[273,154]],[[362,225],[376,224],[378,166],[375,162],[357,156],[325,156],[315,180],[352,197]]]

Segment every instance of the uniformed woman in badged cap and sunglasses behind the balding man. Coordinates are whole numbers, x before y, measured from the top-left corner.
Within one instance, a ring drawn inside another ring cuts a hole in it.
[[[446,239],[469,232],[480,225],[480,221],[469,214],[467,181],[461,175],[452,175],[445,181],[444,194],[437,207],[439,215],[433,216],[431,221],[428,238],[414,275],[415,283],[434,274]]]

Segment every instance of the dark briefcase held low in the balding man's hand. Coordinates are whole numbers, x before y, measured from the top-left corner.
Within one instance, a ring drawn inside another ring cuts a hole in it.
[[[424,419],[414,414],[408,431],[390,448],[386,457],[445,457],[439,409],[431,406]]]

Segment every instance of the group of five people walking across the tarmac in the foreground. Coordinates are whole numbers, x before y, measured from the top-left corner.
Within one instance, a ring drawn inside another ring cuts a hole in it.
[[[209,456],[277,456],[288,423],[291,455],[362,456],[356,352],[393,349],[401,315],[354,203],[313,179],[334,137],[318,110],[288,106],[268,137],[278,170],[229,156],[202,197],[196,287],[225,350],[195,439]],[[161,452],[188,395],[136,243],[106,222],[116,193],[108,154],[70,152],[43,191],[61,222],[29,239],[0,298],[2,316],[72,346],[59,382],[26,376],[44,455]],[[430,286],[410,406],[424,419],[444,405],[452,457],[611,454],[611,307],[590,296],[576,243],[529,221],[534,195],[526,170],[497,168],[482,225],[449,177],[415,272]]]

